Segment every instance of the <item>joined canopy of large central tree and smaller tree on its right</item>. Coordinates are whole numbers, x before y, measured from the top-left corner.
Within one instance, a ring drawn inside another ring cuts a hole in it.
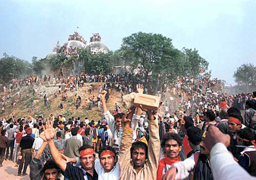
[[[124,54],[133,55],[134,67],[141,66],[145,82],[149,75],[153,79],[171,81],[177,76],[198,76],[208,70],[208,62],[203,59],[198,50],[176,49],[172,40],[162,34],[133,33],[123,38],[121,50]]]

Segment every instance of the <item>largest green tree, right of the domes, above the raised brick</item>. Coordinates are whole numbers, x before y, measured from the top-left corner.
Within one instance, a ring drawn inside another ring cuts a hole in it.
[[[159,80],[173,79],[182,73],[181,51],[174,48],[170,38],[161,34],[131,34],[123,38],[121,50],[135,57],[134,66],[142,66],[145,82],[150,74]]]

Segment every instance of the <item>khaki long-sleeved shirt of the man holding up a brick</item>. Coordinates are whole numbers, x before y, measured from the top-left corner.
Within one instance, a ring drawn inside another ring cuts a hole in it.
[[[148,121],[150,138],[148,141],[148,159],[144,167],[137,173],[133,168],[130,149],[132,145],[132,128],[124,128],[118,162],[120,166],[120,180],[155,180],[160,152],[160,140],[157,119]]]

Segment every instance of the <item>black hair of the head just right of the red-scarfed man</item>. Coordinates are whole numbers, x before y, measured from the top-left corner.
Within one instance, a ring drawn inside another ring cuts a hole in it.
[[[187,129],[187,136],[193,145],[198,145],[202,141],[203,131],[198,127],[192,126]]]

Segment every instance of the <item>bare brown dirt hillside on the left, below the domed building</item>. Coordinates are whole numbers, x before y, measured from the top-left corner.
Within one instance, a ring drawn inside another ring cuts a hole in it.
[[[103,85],[103,83],[93,83],[93,85],[95,87],[95,91],[92,92],[91,94],[89,94],[89,91],[88,91],[88,94],[85,93],[85,87],[90,86],[90,84],[85,84],[85,86],[82,88],[80,87],[77,90],[77,92],[68,91],[68,99],[66,100],[66,102],[61,101],[61,94],[58,94],[57,86],[55,87],[36,86],[39,89],[39,92],[43,92],[47,94],[49,98],[48,108],[44,106],[43,100],[40,100],[39,93],[33,96],[33,92],[31,88],[28,88],[28,87],[22,88],[21,90],[22,98],[20,99],[18,99],[18,96],[16,95],[17,89],[15,89],[11,93],[12,99],[6,101],[5,113],[0,114],[0,118],[3,118],[3,117],[10,118],[11,114],[14,114],[17,118],[24,117],[24,116],[27,117],[28,115],[31,115],[32,117],[36,117],[36,115],[43,114],[44,118],[48,118],[49,115],[53,113],[55,116],[58,114],[66,115],[66,118],[74,116],[74,117],[80,117],[83,120],[85,117],[88,117],[88,119],[90,120],[93,119],[98,121],[100,120],[100,117],[102,115],[102,113],[100,112],[100,109],[98,107],[93,108],[93,110],[88,110],[87,108],[85,108],[86,99],[88,99],[88,97],[93,97],[93,95],[97,97],[99,94],[99,85]],[[56,99],[53,98],[54,92],[56,92],[58,95]],[[75,108],[74,100],[73,100],[75,93],[77,93],[82,97],[81,106],[77,110]],[[1,92],[1,95],[2,94],[3,92]],[[7,93],[5,93],[5,98],[6,96],[7,96]],[[30,106],[34,99],[38,100],[38,102],[36,103],[35,108],[31,112]],[[16,101],[16,106],[14,108],[11,108],[12,100]],[[60,103],[63,104],[62,110],[59,109]],[[115,103],[118,103],[120,106],[122,105],[120,93],[116,92],[115,90],[112,90],[110,94],[110,99],[107,103],[107,106],[110,111],[114,110]]]

